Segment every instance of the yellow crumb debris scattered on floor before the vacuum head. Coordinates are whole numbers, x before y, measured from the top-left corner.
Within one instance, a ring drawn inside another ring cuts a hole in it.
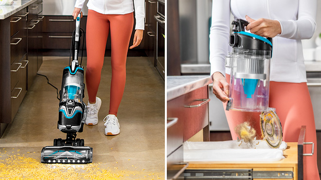
[[[150,180],[151,177],[146,175],[155,174],[147,171],[143,173],[143,171],[118,170],[119,167],[99,168],[100,162],[43,164],[34,158],[19,156],[20,154],[2,153],[1,155],[0,180]],[[157,179],[164,179],[161,175]]]

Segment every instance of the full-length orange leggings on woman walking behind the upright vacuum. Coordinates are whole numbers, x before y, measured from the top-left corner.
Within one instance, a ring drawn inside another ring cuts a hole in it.
[[[104,15],[88,10],[86,83],[89,102],[96,101],[110,28],[112,73],[109,114],[117,115],[123,97],[126,82],[126,57],[133,26],[133,13]]]

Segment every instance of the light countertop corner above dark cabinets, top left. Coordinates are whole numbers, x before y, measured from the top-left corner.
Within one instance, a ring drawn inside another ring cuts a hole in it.
[[[13,5],[0,6],[0,19],[5,19],[37,0],[14,0]]]

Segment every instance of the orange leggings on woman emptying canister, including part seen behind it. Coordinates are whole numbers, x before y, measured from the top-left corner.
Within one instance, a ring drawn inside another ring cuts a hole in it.
[[[230,79],[230,75],[226,74]],[[226,103],[224,103],[226,107]],[[306,142],[314,143],[313,156],[304,156],[306,163],[303,167],[304,180],[320,180],[317,166],[317,136],[314,123],[311,98],[306,83],[285,83],[270,82],[269,107],[275,108],[280,118],[283,129],[283,141],[298,142],[301,126],[306,126]],[[234,127],[244,121],[249,121],[255,128],[258,138],[261,138],[261,127],[259,124],[259,113],[225,111],[232,139],[236,140],[237,135]],[[304,153],[311,153],[311,145],[304,145]],[[308,150],[307,150],[308,149]]]

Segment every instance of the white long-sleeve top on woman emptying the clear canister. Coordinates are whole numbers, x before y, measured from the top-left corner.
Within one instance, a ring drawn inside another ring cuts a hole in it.
[[[210,31],[211,75],[224,76],[225,56],[229,45],[230,12],[234,18],[267,18],[278,20],[281,34],[272,38],[270,81],[306,82],[301,39],[309,39],[316,30],[317,0],[215,0]]]

